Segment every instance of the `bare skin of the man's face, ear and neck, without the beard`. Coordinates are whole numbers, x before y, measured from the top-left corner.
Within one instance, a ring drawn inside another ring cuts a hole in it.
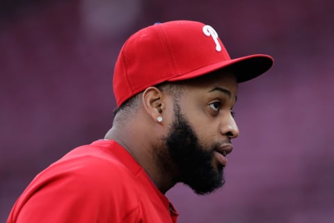
[[[189,121],[200,145],[211,150],[212,167],[225,167],[226,154],[232,151],[230,139],[239,135],[239,129],[232,116],[232,108],[237,100],[237,81],[230,72],[212,74],[182,81],[182,94],[177,97],[182,116]],[[159,123],[157,118],[163,121]],[[116,115],[113,127],[105,139],[113,139],[123,146],[141,164],[154,184],[166,193],[180,182],[179,172],[173,160],[169,171],[157,164],[157,149],[166,150],[166,136],[175,121],[175,96],[151,86],[141,93],[141,103],[124,123],[122,116]],[[157,148],[157,145],[161,145]]]

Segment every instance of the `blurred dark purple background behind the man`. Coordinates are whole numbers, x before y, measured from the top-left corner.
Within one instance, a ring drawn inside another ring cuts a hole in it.
[[[104,137],[122,43],[168,20],[214,26],[232,57],[275,59],[239,86],[225,187],[168,192],[179,222],[334,222],[333,13],[331,0],[1,1],[0,222],[38,172]]]

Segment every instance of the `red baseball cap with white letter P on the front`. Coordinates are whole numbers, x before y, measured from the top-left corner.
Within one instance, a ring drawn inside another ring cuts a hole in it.
[[[117,106],[162,82],[176,82],[229,67],[237,82],[266,72],[273,58],[253,54],[231,59],[212,26],[194,21],[157,23],[134,33],[120,50],[113,74]]]

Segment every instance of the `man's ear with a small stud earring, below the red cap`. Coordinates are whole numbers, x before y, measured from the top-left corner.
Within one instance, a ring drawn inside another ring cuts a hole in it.
[[[154,86],[150,86],[143,92],[143,105],[146,112],[154,121],[163,116],[164,111],[164,93]]]

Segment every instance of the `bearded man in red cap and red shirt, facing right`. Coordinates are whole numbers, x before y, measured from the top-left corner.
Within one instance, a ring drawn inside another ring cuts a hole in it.
[[[38,174],[7,222],[176,222],[164,194],[176,183],[198,194],[223,185],[239,135],[237,84],[272,63],[261,54],[230,59],[212,26],[200,22],[134,33],[116,62],[111,130]]]

